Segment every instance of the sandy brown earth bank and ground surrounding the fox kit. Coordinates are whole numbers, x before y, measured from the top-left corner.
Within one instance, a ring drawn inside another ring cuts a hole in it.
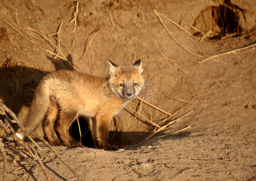
[[[256,46],[200,63],[210,55],[255,44],[256,32],[252,28],[200,42],[196,38],[203,35],[189,36],[161,16],[170,34],[193,55],[169,36],[153,11],[194,33],[187,23],[193,25],[202,10],[218,2],[79,1],[75,24],[71,20],[76,2],[1,0],[0,97],[22,121],[33,90],[48,72],[68,69],[107,76],[108,59],[119,65],[141,59],[145,80],[154,83],[154,90],[147,92],[154,98],[146,101],[169,113],[188,105],[164,124],[191,113],[143,141],[154,126],[122,111],[110,128],[110,142],[118,151],[55,146],[77,174],[102,181],[256,180]],[[232,2],[248,12],[248,21],[256,17],[254,0]],[[255,19],[250,23],[253,27]],[[193,97],[192,103],[184,102]],[[134,100],[128,107],[135,110],[138,105]],[[141,112],[157,124],[167,117],[144,103]],[[8,181],[46,180],[21,146],[5,139],[4,144]],[[42,159],[51,180],[77,180],[42,142],[38,144],[46,154]],[[1,156],[1,177],[2,168]]]

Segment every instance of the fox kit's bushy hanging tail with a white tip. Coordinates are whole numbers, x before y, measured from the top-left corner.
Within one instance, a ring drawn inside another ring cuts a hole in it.
[[[29,107],[29,112],[26,116],[25,122],[23,123],[26,130],[36,130],[36,128],[42,123],[50,104],[49,85],[47,85],[46,82],[41,82],[36,88],[35,98]],[[20,139],[24,139],[25,134],[23,131],[20,131],[16,136]]]

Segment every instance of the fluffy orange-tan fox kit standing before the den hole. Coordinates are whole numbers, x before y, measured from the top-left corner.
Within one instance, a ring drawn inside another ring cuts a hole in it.
[[[138,96],[143,86],[141,60],[130,66],[118,66],[108,60],[108,78],[99,78],[76,71],[59,70],[46,75],[35,91],[24,126],[34,131],[43,121],[51,145],[82,146],[69,133],[77,116],[89,116],[95,146],[112,150],[108,144],[108,126],[114,115]],[[107,91],[107,93],[106,93]],[[21,139],[25,134],[20,131]]]

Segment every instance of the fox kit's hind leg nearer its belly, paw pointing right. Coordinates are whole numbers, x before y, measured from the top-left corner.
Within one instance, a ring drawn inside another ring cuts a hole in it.
[[[75,141],[75,139],[69,133],[69,127],[77,117],[77,111],[72,109],[62,110],[60,113],[60,119],[57,121],[56,130],[58,131],[61,140],[68,147],[82,147],[81,142]]]

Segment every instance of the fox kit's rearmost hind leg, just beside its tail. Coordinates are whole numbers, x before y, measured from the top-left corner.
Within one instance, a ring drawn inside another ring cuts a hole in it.
[[[47,136],[47,139],[49,143],[53,146],[60,146],[61,141],[56,135],[56,132],[54,130],[55,121],[58,117],[58,105],[56,103],[51,103],[51,106],[48,109],[47,115],[46,115],[46,121],[44,123],[44,131]]]

